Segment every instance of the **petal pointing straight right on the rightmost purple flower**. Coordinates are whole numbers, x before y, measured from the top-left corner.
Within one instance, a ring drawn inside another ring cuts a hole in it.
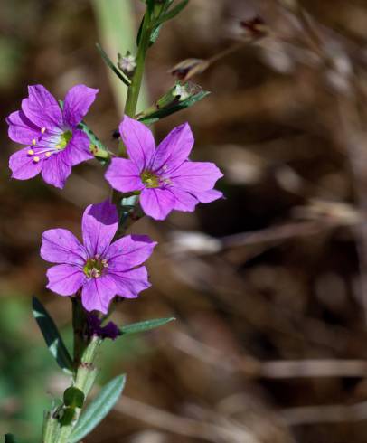
[[[208,162],[184,162],[170,176],[174,187],[189,192],[208,191],[223,174],[216,165]]]

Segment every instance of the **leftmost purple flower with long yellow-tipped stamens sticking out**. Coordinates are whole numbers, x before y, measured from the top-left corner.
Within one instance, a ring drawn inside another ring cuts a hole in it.
[[[6,118],[9,137],[27,145],[9,159],[12,177],[27,180],[41,173],[46,183],[62,188],[71,166],[93,158],[89,137],[77,127],[97,93],[84,85],[74,86],[61,110],[42,85],[29,86],[22,109]]]

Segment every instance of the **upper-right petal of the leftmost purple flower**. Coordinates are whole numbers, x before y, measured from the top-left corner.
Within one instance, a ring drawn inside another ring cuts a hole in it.
[[[96,99],[99,90],[93,90],[85,85],[76,85],[68,91],[63,104],[63,118],[71,127],[80,124],[88,113],[90,105]]]

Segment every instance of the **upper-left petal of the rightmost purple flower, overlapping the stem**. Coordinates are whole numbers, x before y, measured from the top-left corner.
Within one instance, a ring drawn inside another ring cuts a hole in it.
[[[155,139],[150,129],[134,118],[124,117],[119,126],[127,154],[139,172],[149,168],[155,155]]]

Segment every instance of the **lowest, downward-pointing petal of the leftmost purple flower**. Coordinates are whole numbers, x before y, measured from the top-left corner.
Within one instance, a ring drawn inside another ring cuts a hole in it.
[[[62,189],[71,174],[71,164],[65,151],[53,154],[42,160],[42,179],[56,188]]]

